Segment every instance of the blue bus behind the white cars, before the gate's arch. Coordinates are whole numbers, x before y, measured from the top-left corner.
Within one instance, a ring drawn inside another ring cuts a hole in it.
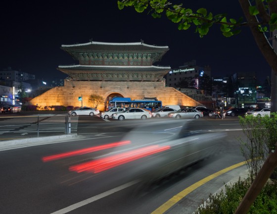
[[[157,100],[131,100],[131,98],[116,97],[109,101],[108,109],[113,107],[141,107],[153,111],[162,107],[162,102]]]

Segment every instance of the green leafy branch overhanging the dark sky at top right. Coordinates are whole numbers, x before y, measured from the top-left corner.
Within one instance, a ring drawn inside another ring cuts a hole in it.
[[[245,25],[256,26],[261,32],[267,32],[269,26],[270,31],[274,31],[277,29],[277,13],[272,11],[271,15],[267,13],[272,4],[276,4],[276,0],[256,0],[256,5],[249,5],[248,12],[253,17],[259,14],[261,21],[243,22],[242,17],[227,18],[227,14],[224,13],[214,15],[206,8],[193,11],[183,7],[183,4],[173,4],[168,0],[118,0],[119,9],[134,6],[137,12],[148,10],[154,18],[160,18],[162,13],[165,13],[172,22],[179,24],[179,30],[187,30],[194,25],[195,33],[198,33],[201,38],[208,34],[214,24],[221,25],[220,30],[225,37],[240,33],[239,28]]]

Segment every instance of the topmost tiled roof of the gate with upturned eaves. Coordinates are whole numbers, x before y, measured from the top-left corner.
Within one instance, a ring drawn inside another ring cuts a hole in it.
[[[149,54],[151,61],[159,61],[169,50],[168,46],[147,45],[137,43],[104,43],[89,42],[84,44],[62,45],[61,49],[80,61],[82,54]]]

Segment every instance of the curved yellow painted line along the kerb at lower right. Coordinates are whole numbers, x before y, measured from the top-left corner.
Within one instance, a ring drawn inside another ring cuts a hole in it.
[[[168,209],[170,209],[172,206],[174,206],[176,203],[178,203],[181,199],[183,199],[186,195],[191,193],[193,190],[197,189],[198,187],[202,186],[203,184],[207,183],[208,181],[218,177],[219,175],[222,175],[228,171],[231,171],[232,169],[235,169],[239,166],[242,166],[246,163],[246,161],[239,162],[237,164],[231,165],[225,169],[222,169],[208,177],[203,178],[202,180],[192,184],[191,186],[184,189],[182,192],[178,193],[177,195],[173,196],[171,199],[169,199],[166,203],[164,203],[162,206],[157,208],[155,211],[153,211],[151,214],[163,214]]]

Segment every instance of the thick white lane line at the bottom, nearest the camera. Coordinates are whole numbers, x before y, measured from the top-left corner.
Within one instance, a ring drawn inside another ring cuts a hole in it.
[[[61,209],[61,210],[56,211],[56,212],[51,213],[51,214],[66,214],[68,212],[76,210],[77,208],[83,207],[83,206],[85,206],[87,204],[90,204],[90,203],[92,203],[94,201],[97,201],[97,200],[99,200],[101,198],[104,198],[104,197],[109,196],[109,195],[111,195],[113,193],[121,191],[121,190],[123,190],[123,189],[125,189],[127,187],[133,186],[136,183],[139,183],[139,180],[135,180],[135,181],[131,181],[129,183],[123,184],[123,185],[121,185],[119,187],[116,187],[114,189],[108,190],[108,191],[103,192],[103,193],[101,193],[99,195],[93,196],[92,198],[89,198],[89,199],[86,199],[84,201],[78,202],[78,203],[76,203],[74,205],[70,205],[70,206],[68,206],[68,207],[66,207],[64,209]]]

